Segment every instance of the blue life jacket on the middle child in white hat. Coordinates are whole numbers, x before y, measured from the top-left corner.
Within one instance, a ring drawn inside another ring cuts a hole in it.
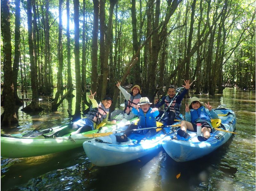
[[[141,128],[156,127],[156,118],[153,117],[153,114],[150,113],[152,108],[150,107],[147,113],[144,113],[139,109],[139,122],[138,125]]]

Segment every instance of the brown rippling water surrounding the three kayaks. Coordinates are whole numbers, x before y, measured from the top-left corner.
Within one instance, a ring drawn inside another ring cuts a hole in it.
[[[31,90],[27,96],[31,97]],[[226,104],[237,119],[238,134],[206,157],[177,163],[158,149],[139,160],[108,167],[94,166],[82,147],[40,157],[1,157],[1,190],[255,190],[255,91],[226,88],[223,94],[198,97],[213,108]],[[74,113],[75,98],[65,99],[56,112],[50,111],[46,98],[41,99],[44,111],[29,115],[19,107],[19,126],[2,129],[14,134],[70,121],[67,109]],[[121,96],[117,107],[123,101]],[[182,113],[185,103],[188,99],[182,101]]]

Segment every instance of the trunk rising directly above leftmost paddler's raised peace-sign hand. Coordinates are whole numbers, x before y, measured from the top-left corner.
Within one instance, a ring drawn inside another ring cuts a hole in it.
[[[92,75],[91,90],[97,91],[98,86],[98,33],[99,33],[99,1],[93,0],[93,29],[92,29]]]

